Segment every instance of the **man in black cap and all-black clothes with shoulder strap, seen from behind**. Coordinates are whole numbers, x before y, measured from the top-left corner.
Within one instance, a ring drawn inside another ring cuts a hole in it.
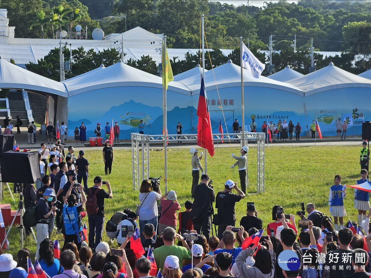
[[[208,175],[201,176],[201,183],[194,187],[194,202],[190,213],[194,229],[198,234],[202,231],[207,240],[210,237],[211,215],[214,214],[215,201],[215,192],[210,182]]]

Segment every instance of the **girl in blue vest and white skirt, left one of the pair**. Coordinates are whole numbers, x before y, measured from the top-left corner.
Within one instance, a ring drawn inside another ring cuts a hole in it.
[[[330,213],[334,216],[334,228],[339,231],[338,218],[340,222],[340,227],[344,226],[343,217],[347,215],[344,208],[343,199],[346,196],[345,188],[346,186],[341,185],[341,176],[335,176],[335,184],[330,188],[330,194],[328,197],[328,204],[330,206]],[[370,205],[370,204],[369,204]]]

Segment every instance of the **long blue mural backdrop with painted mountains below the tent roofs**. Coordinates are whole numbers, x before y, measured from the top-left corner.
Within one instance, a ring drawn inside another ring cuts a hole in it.
[[[347,136],[362,133],[362,121],[370,119],[370,109],[364,109],[361,99],[365,88],[336,89],[301,96],[279,89],[262,87],[244,87],[245,129],[249,130],[252,119],[257,123],[257,131],[266,120],[278,123],[278,120],[300,122],[301,136],[306,135],[308,126],[317,116],[322,134],[335,136],[335,121],[347,120]],[[234,119],[241,119],[241,88],[230,87],[207,92],[213,133],[219,133],[219,119],[224,133],[232,133]],[[183,134],[197,133],[196,95],[187,96],[167,91],[168,133],[176,134],[178,122],[183,125]],[[120,126],[120,139],[130,139],[132,132],[138,132],[140,120],[145,123],[145,134],[160,135],[163,132],[162,90],[149,87],[115,87],[81,93],[68,99],[68,135],[73,136],[75,127],[86,126],[86,137],[95,137],[96,123],[111,124],[112,118]],[[102,132],[104,135],[104,132]]]

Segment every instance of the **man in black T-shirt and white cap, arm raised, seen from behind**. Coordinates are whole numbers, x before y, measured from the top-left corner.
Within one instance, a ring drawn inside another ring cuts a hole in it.
[[[238,194],[232,193],[233,188]],[[216,194],[215,208],[218,209],[218,214],[214,215],[213,224],[218,225],[218,238],[222,238],[227,226],[234,226],[236,222],[234,207],[236,202],[243,198],[245,198],[245,193],[238,188],[237,182],[230,179],[224,184],[224,190]]]

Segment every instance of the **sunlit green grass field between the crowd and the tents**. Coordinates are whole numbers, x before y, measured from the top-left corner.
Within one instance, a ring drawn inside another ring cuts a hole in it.
[[[77,151],[78,149],[76,149]],[[168,190],[176,190],[178,201],[184,209],[184,202],[191,200],[191,156],[189,149],[168,149]],[[230,178],[239,183],[238,170],[230,171],[230,166],[236,161],[231,153],[239,153],[238,148],[217,148],[213,158],[208,157],[208,174],[213,179],[215,192],[223,190],[224,182]],[[115,150],[115,161],[112,174],[104,175],[104,163],[101,151],[85,152],[85,158],[89,160],[90,176],[89,186],[93,184],[93,178],[101,175],[109,180],[112,187],[113,198],[105,200],[105,222],[116,211],[126,207],[135,209],[138,201],[138,191],[132,189],[132,161],[131,150]],[[249,193],[256,192],[256,148],[249,151]],[[324,214],[329,214],[328,194],[329,188],[334,184],[334,176],[342,176],[342,184],[355,184],[360,178],[358,164],[358,146],[269,146],[265,156],[265,193],[248,195],[236,205],[237,221],[246,215],[246,202],[255,202],[259,217],[263,219],[266,227],[272,219],[272,207],[282,205],[285,213],[295,214],[301,209],[300,202],[313,202],[316,208]],[[150,152],[150,175],[164,175],[164,153],[151,150]],[[12,184],[10,184],[12,188]],[[103,188],[106,187],[103,185]],[[163,180],[161,190],[164,192]],[[357,210],[353,208],[354,189],[347,189],[345,209],[347,219],[357,221]],[[16,196],[15,196],[16,198]],[[10,198],[9,191],[4,189],[4,203],[11,203],[12,209],[16,209],[17,203]],[[296,223],[298,221],[296,217]],[[83,219],[88,224],[87,219]],[[62,235],[53,232],[52,239],[62,241]],[[108,241],[104,232],[103,238]],[[12,228],[9,236],[10,253],[16,255],[19,250],[19,230]],[[36,243],[29,239],[25,247],[33,254],[36,252]],[[14,257],[15,258],[15,257]]]

